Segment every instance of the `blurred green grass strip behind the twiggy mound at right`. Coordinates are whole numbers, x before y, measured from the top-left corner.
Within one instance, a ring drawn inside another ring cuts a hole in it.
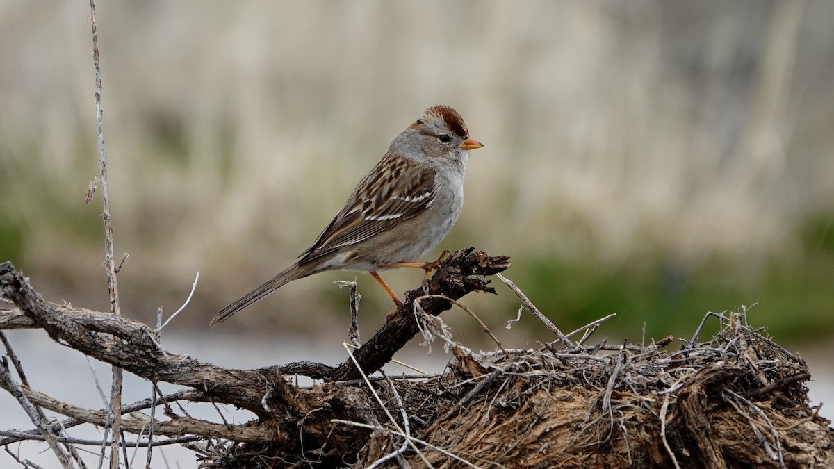
[[[616,267],[516,259],[508,275],[565,330],[617,313],[613,323],[632,340],[641,338],[644,323],[648,340],[686,336],[706,311],[746,308],[751,325],[766,325],[779,340],[826,340],[834,330],[832,221],[826,214],[801,227],[806,250],[767,257],[752,279],[745,259],[716,258],[688,269],[660,254]]]

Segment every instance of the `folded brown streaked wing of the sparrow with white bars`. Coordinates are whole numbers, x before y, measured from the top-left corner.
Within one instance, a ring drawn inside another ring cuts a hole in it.
[[[319,239],[299,256],[304,264],[378,235],[414,217],[435,199],[435,172],[386,154],[354,189]]]

